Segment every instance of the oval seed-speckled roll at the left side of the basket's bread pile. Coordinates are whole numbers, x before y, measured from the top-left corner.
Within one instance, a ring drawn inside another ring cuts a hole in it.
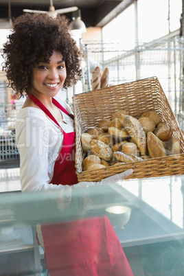
[[[106,143],[93,139],[90,142],[92,152],[105,161],[110,161],[113,158],[113,150]]]

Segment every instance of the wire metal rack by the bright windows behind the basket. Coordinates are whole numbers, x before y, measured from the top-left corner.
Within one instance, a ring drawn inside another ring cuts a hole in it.
[[[91,76],[95,66],[101,71],[109,68],[109,86],[156,76],[181,128],[184,128],[183,100],[183,38],[171,36],[150,43],[124,49],[113,43],[84,43],[86,66],[82,81],[84,91],[91,90]]]

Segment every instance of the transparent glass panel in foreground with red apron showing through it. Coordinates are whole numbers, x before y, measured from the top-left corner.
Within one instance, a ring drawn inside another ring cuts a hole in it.
[[[1,193],[0,275],[82,275],[81,269],[90,275],[88,268],[101,269],[91,275],[130,275],[124,274],[128,260],[133,275],[182,276],[183,187],[183,176],[164,176],[80,187],[71,197],[58,192]],[[111,274],[107,249],[114,269],[117,242],[126,257],[118,273]],[[47,265],[56,271],[49,273]]]

